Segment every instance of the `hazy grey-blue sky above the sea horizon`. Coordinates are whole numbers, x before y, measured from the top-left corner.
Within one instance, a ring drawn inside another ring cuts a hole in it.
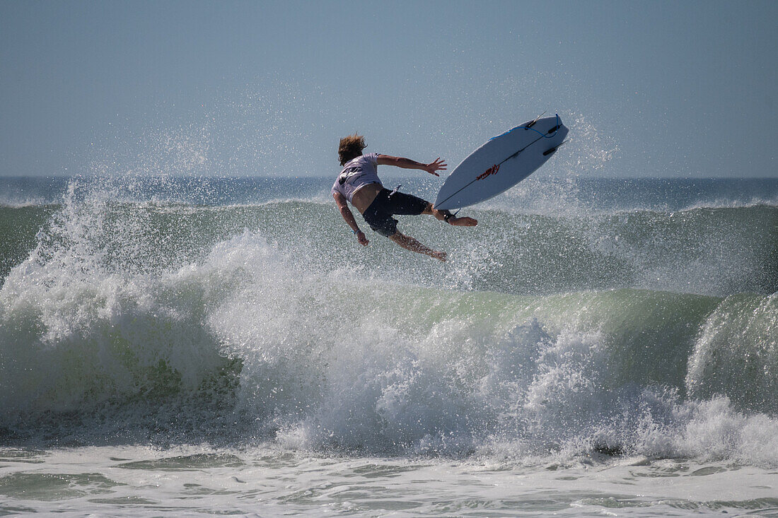
[[[454,166],[547,110],[547,174],[778,177],[778,2],[0,0],[0,175]],[[564,152],[564,153],[562,153]]]

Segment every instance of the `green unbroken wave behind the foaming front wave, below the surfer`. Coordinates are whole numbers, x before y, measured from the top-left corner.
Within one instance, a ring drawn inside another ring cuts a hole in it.
[[[61,212],[58,206],[0,208],[0,228],[8,236],[0,248],[0,274],[29,257],[40,229],[49,229],[41,239],[88,243],[96,261],[129,271],[201,260],[217,243],[249,229],[288,254],[306,255],[310,268],[370,268],[372,275],[407,284],[516,295],[618,288],[715,296],[778,291],[778,207],[771,205],[577,216],[473,209],[469,213],[481,226],[471,232],[432,218],[400,217],[405,232],[450,251],[446,268],[394,250],[369,229],[373,245],[353,250],[332,204],[98,205],[67,205]],[[52,215],[69,219],[52,223]],[[68,227],[80,234],[65,236]]]

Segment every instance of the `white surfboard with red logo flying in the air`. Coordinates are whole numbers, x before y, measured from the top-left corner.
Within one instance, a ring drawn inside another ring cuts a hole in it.
[[[551,158],[567,131],[556,115],[527,121],[490,138],[451,171],[435,208],[467,207],[507,191]]]

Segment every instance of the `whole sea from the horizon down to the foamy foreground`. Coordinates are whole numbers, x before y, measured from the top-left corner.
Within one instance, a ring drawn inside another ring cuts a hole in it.
[[[778,516],[778,179],[335,173],[0,178],[0,515]]]

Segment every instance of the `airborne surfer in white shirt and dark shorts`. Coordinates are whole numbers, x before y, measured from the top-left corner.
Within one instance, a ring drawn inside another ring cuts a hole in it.
[[[448,211],[439,211],[429,201],[417,198],[412,194],[389,191],[378,178],[378,166],[396,166],[402,169],[418,169],[440,176],[437,171],[446,170],[447,163],[438,158],[432,163],[419,163],[399,156],[379,155],[370,153],[363,155],[366,148],[362,135],[349,135],[341,138],[338,146],[338,158],[343,170],[332,185],[332,198],[338,205],[343,219],[351,227],[359,244],[367,246],[365,233],[359,229],[354,215],[346,201],[350,201],[362,214],[370,228],[387,236],[406,250],[417,254],[426,254],[440,261],[446,261],[446,252],[439,252],[426,247],[411,236],[406,236],[397,229],[397,219],[393,215],[429,214],[454,226],[476,226],[478,221],[472,218],[455,218]]]

